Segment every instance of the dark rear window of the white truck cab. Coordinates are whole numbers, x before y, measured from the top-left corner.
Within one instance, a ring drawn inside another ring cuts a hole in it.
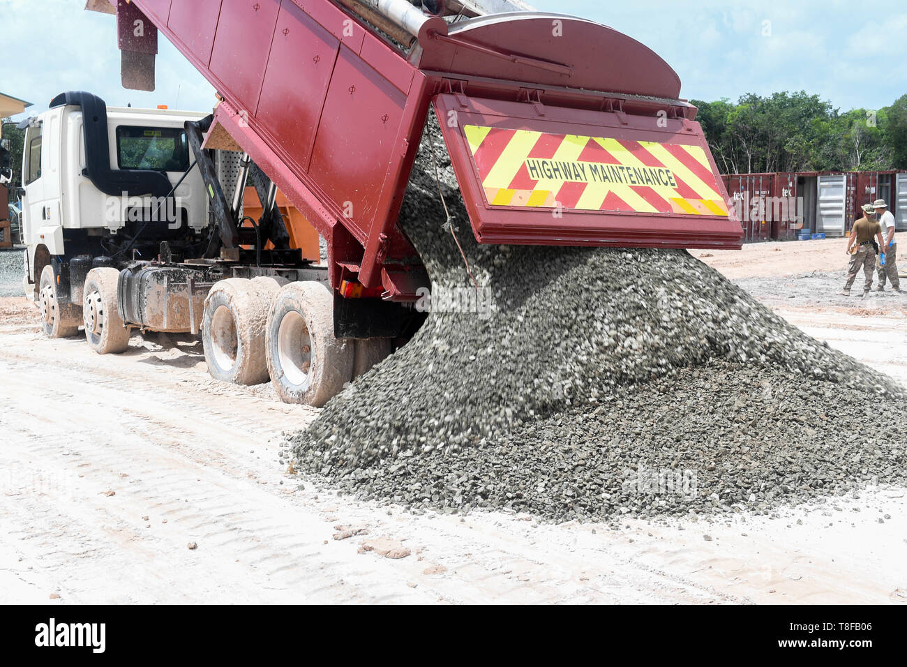
[[[185,172],[189,168],[186,132],[178,127],[120,125],[116,151],[120,169]]]

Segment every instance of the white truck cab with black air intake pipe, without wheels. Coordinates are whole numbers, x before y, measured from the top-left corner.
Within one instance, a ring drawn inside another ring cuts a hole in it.
[[[26,294],[38,296],[54,259],[60,282],[78,255],[151,259],[160,240],[199,240],[209,224],[199,170],[167,195],[192,163],[183,123],[205,115],[107,108],[90,93],[63,93],[30,119],[22,169]],[[135,242],[123,251],[140,231],[151,246]]]

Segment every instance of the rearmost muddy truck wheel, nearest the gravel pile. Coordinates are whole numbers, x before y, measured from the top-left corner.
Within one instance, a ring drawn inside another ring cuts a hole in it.
[[[268,370],[284,403],[322,407],[353,377],[353,345],[334,338],[334,297],[314,280],[290,282],[268,313]]]

